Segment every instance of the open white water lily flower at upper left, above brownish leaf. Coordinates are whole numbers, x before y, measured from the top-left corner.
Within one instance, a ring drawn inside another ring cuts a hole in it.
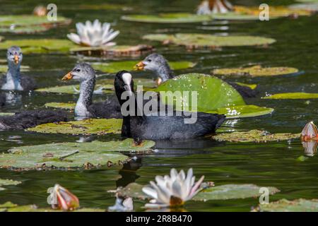
[[[99,20],[94,20],[93,23],[76,23],[77,34],[71,33],[67,37],[76,44],[81,44],[89,47],[113,46],[116,43],[110,42],[119,31],[110,29],[110,23],[100,23]]]

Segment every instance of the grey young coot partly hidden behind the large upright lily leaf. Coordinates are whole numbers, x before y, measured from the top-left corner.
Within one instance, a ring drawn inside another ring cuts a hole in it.
[[[158,76],[157,84],[163,83],[170,78],[175,77],[175,73],[169,66],[169,63],[163,55],[160,54],[150,54],[143,61],[140,61],[136,66],[134,66],[136,70],[146,70],[153,71]],[[249,87],[238,85],[237,83],[228,83],[232,85],[232,88],[235,88],[242,97],[256,97],[257,91],[252,90]]]

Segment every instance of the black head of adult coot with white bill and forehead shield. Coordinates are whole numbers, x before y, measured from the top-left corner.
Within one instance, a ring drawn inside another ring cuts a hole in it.
[[[122,94],[127,92],[130,96],[134,93],[134,81],[131,73],[128,71],[119,71],[114,79],[114,88],[119,102],[122,100]]]

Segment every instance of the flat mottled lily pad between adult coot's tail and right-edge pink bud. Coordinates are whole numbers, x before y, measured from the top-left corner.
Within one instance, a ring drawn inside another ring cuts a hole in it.
[[[269,133],[268,131],[254,129],[245,132],[220,133],[212,136],[212,138],[216,141],[266,143],[297,139],[300,138],[300,133]]]

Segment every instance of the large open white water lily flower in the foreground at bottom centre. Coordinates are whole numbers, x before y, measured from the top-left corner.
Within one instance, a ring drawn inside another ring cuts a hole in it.
[[[200,191],[200,185],[204,180],[202,176],[195,182],[192,168],[188,170],[187,176],[181,170],[178,174],[175,168],[170,171],[170,176],[156,176],[151,186],[143,187],[143,192],[153,198],[146,208],[165,208],[168,206],[182,206],[184,202],[192,199]]]

